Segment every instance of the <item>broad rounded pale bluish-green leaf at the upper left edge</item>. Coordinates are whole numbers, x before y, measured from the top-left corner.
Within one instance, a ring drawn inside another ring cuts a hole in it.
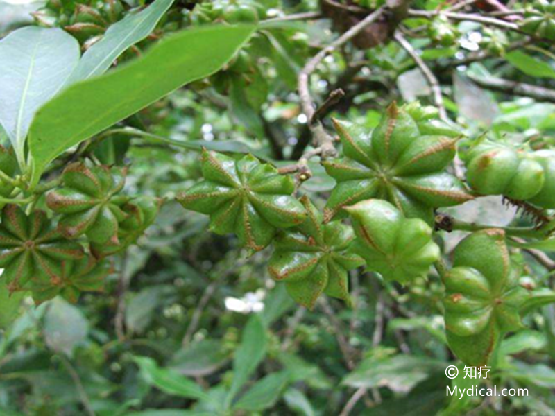
[[[0,42],[0,122],[23,161],[35,112],[64,85],[79,60],[79,44],[60,29],[21,28]]]

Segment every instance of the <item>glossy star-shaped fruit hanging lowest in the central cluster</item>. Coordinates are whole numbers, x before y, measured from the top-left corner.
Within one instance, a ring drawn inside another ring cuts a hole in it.
[[[296,302],[309,309],[322,293],[350,302],[348,270],[364,264],[361,257],[346,251],[355,234],[339,221],[323,224],[321,212],[307,196],[300,202],[307,219],[278,234],[268,271],[273,279],[285,282]]]

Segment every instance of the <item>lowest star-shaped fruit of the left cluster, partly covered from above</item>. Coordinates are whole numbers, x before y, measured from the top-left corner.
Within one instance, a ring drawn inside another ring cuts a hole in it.
[[[35,304],[61,295],[65,300],[76,303],[83,292],[101,292],[105,278],[113,272],[108,261],[99,261],[92,256],[75,261],[62,261],[62,273],[56,281],[36,281],[31,287]]]

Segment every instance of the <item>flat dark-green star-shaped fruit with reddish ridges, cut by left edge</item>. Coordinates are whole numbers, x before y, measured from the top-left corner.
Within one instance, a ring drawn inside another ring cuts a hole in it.
[[[6,205],[1,217],[0,268],[10,291],[57,284],[63,261],[83,257],[83,248],[60,235],[44,211],[26,216],[16,205]]]

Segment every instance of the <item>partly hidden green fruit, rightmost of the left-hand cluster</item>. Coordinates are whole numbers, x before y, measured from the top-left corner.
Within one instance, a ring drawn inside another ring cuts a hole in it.
[[[126,250],[130,245],[137,243],[140,236],[150,227],[162,206],[162,199],[151,196],[133,198],[121,209],[126,218],[119,223],[119,245],[91,244],[91,251],[96,258],[102,258]]]

